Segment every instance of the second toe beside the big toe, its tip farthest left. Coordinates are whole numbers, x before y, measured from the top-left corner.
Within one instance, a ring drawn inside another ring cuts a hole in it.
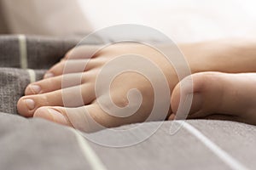
[[[19,99],[17,109],[22,116],[32,116],[42,106],[79,107],[89,104],[95,98],[93,85],[86,83],[46,94],[24,96]]]

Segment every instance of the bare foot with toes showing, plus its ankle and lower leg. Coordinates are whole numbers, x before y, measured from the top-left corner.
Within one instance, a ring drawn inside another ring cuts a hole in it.
[[[188,60],[192,73],[201,71],[256,71],[254,65],[256,54],[253,54],[255,51],[253,50],[255,49],[254,43],[250,43],[247,46],[243,45],[243,43],[217,41],[183,44],[179,48],[182,49],[183,54]],[[143,102],[135,114],[122,117],[122,113],[119,113],[120,117],[111,116],[105,110],[103,111],[101,105],[98,103],[98,99],[102,99],[101,96],[104,97],[105,94],[96,96],[96,77],[105,64],[116,56],[123,54],[140,54],[152,61],[155,65],[158,65],[166,76],[170,92],[177,85],[178,78],[176,71],[172,65],[168,64],[166,58],[153,48],[142,44],[115,44],[94,54],[92,59],[86,59],[86,56],[90,55],[93,49],[94,47],[89,46],[74,48],[67,54],[66,58],[49,69],[45,74],[44,80],[30,84],[26,88],[26,96],[22,97],[18,102],[20,115],[43,117],[53,122],[79,128],[83,131],[96,131],[102,128],[91,126],[90,118],[103,127],[117,127],[133,122],[144,122],[154,104],[154,90],[148,79],[137,72],[130,71],[120,74],[114,79],[110,87],[113,103],[120,108],[129,104],[127,92],[130,89],[136,88],[141,92]],[[136,59],[133,62],[136,63]],[[87,65],[84,69],[85,63]],[[125,64],[132,65],[129,62]],[[68,71],[64,71],[67,65],[69,69]],[[116,65],[116,67],[119,66]],[[84,70],[81,71],[81,69]],[[151,69],[149,68],[148,70]],[[111,72],[105,73],[106,77],[109,76],[109,73]],[[154,80],[158,78],[154,75],[154,72],[152,72],[152,76]],[[79,82],[78,79],[80,77],[82,78]],[[67,80],[64,87],[62,83],[63,79]],[[212,83],[212,86],[214,83]],[[177,89],[172,94],[172,109],[174,113],[177,111],[179,99]],[[77,93],[78,91],[81,92],[79,93],[81,94],[80,96]],[[83,101],[76,102],[79,98],[82,98]],[[65,103],[65,99],[68,99],[69,102]],[[109,101],[106,102],[108,104]],[[166,105],[166,102],[170,104],[170,99],[162,99],[162,102],[163,105]],[[131,106],[131,109],[134,109],[132,107],[135,106]],[[113,111],[111,105],[108,105],[108,109]],[[172,111],[170,110],[169,113],[172,113]],[[200,116],[206,115],[202,114]]]

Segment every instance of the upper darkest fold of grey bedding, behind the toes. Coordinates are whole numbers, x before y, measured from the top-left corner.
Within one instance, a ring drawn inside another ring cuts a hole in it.
[[[0,66],[20,68],[20,36],[0,36]],[[24,37],[27,67],[47,69],[59,61],[79,39]]]

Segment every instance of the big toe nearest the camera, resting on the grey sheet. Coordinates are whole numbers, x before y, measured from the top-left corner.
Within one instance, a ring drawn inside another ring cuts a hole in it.
[[[86,133],[138,122],[132,116],[112,116],[103,111],[100,105],[96,103],[76,108],[41,107],[35,112],[34,117],[42,117],[52,122],[74,127]]]

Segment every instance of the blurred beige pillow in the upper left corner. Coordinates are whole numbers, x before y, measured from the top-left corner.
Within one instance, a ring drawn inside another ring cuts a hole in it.
[[[5,32],[8,27],[9,33],[15,34],[69,37],[83,36],[90,30],[76,0],[0,0],[0,3],[7,21],[0,30]]]

